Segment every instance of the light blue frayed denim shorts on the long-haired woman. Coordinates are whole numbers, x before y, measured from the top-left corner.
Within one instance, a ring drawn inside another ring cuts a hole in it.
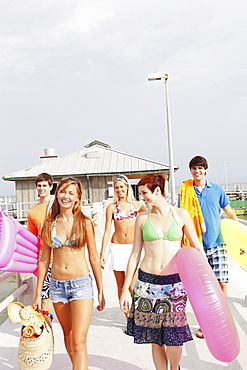
[[[90,273],[72,280],[50,280],[50,299],[53,303],[92,299],[93,296],[93,279]]]

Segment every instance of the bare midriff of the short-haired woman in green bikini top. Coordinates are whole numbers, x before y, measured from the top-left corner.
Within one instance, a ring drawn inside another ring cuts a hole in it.
[[[154,275],[178,273],[176,254],[181,248],[181,241],[152,240],[145,242],[145,256],[141,270]]]

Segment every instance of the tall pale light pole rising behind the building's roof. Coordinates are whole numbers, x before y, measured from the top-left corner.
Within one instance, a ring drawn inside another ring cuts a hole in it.
[[[162,79],[164,79],[164,81],[165,81],[171,204],[175,205],[175,203],[176,203],[176,192],[175,192],[175,176],[174,176],[173,148],[172,148],[172,131],[171,131],[169,95],[168,95],[168,74],[167,73],[150,73],[148,75],[148,81],[157,81],[157,80],[162,80]]]

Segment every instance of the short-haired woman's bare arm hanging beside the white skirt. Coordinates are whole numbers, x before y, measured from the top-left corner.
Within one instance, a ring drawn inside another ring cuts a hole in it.
[[[140,216],[137,217],[136,223],[135,223],[135,235],[134,235],[134,244],[133,249],[129,258],[124,285],[122,288],[122,294],[119,300],[120,308],[124,312],[128,312],[130,309],[129,305],[129,287],[131,284],[131,281],[133,279],[133,276],[136,272],[137,266],[140,262],[141,258],[141,251],[142,251],[142,218]]]

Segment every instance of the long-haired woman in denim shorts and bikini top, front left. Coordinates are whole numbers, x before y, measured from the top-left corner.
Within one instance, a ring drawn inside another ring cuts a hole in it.
[[[82,213],[81,200],[81,183],[73,177],[63,178],[56,189],[55,200],[42,230],[43,253],[39,261],[33,307],[41,308],[40,292],[49,267],[50,256],[53,253],[51,269],[53,307],[63,330],[72,367],[88,369],[87,348],[84,344],[87,341],[93,310],[90,269],[98,290],[97,309],[99,311],[104,309],[105,300],[94,224]]]

